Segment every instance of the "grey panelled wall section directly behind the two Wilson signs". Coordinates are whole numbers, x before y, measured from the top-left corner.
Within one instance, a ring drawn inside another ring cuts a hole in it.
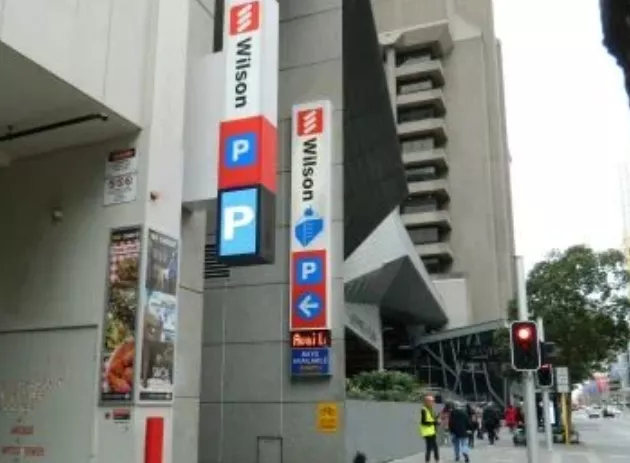
[[[206,281],[199,439],[203,462],[255,463],[279,452],[289,462],[345,461],[342,207],[332,225],[332,378],[292,381],[288,346],[291,109],[295,103],[331,100],[333,191],[341,203],[341,4],[280,2],[276,258],[270,265],[232,267],[229,278]],[[216,233],[214,214],[209,215],[208,233]],[[317,431],[319,402],[338,404],[342,417],[337,433]]]

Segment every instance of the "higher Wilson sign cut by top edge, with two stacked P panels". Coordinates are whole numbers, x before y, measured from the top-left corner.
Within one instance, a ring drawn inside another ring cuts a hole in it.
[[[275,258],[278,2],[227,0],[225,24],[218,258],[230,265],[271,263]]]

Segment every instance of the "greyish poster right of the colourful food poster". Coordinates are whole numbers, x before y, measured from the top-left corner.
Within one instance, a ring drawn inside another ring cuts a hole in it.
[[[140,400],[173,399],[177,332],[178,242],[149,230]]]

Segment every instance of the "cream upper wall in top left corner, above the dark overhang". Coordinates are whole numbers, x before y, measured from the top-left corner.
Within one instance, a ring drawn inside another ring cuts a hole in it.
[[[0,41],[143,124],[155,0],[0,0]]]

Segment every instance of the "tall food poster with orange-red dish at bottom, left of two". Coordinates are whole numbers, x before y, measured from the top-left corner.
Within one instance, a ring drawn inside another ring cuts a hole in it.
[[[142,228],[112,230],[103,322],[101,402],[133,400]]]

